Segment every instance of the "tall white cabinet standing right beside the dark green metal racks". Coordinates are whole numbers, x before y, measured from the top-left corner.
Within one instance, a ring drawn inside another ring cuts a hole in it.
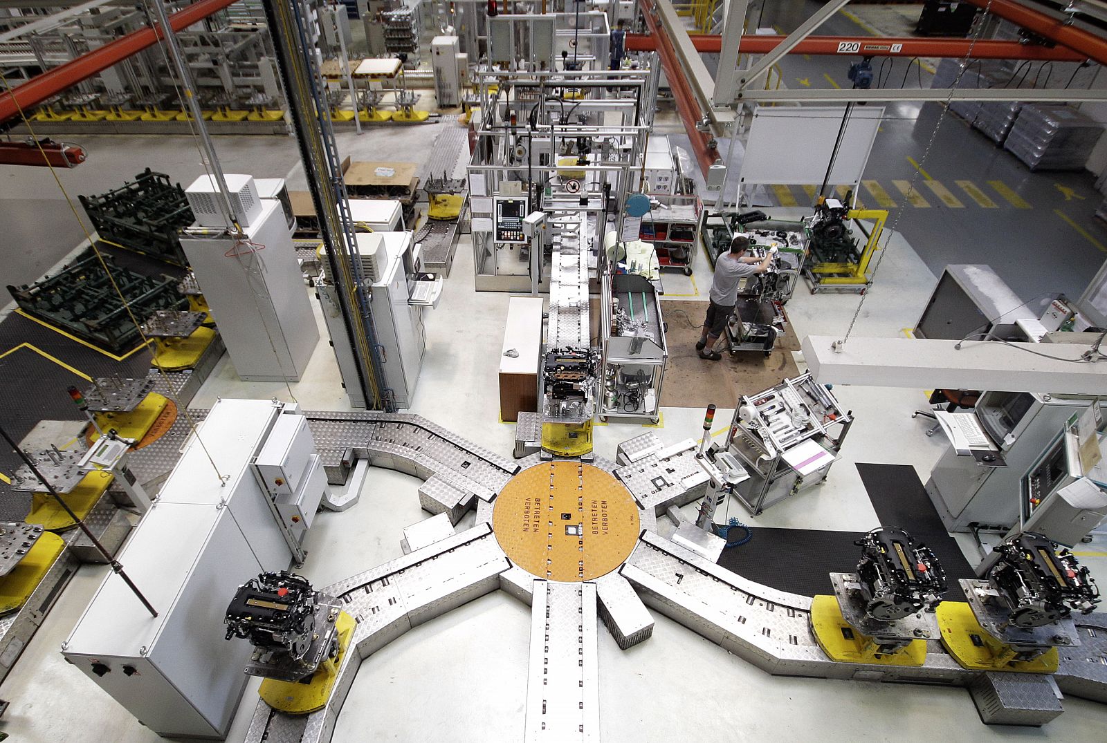
[[[292,248],[284,211],[261,200],[248,242],[183,234],[180,245],[238,376],[248,381],[298,381],[319,342],[319,328]]]

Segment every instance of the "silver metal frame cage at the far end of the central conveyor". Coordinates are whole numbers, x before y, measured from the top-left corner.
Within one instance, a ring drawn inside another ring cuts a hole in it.
[[[623,203],[653,122],[656,66],[615,72],[480,71],[476,82],[480,118],[468,166],[474,220],[490,221],[490,207],[482,205],[497,195],[510,196],[508,189],[516,188],[520,197],[528,195],[529,211],[589,212],[597,220],[598,238],[609,217],[613,229],[621,230]],[[604,123],[611,114],[620,115],[621,122]],[[580,151],[581,143],[591,148],[584,165],[571,155]],[[565,157],[572,163],[562,163]],[[546,255],[531,257],[525,274],[499,272],[493,227],[480,222],[473,229],[478,291],[545,289]]]

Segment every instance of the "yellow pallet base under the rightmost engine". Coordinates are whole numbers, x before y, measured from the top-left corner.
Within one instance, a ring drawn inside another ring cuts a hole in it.
[[[1051,648],[1034,660],[1014,660],[1014,650],[981,627],[972,607],[964,601],[942,601],[938,605],[937,616],[938,628],[942,630],[942,646],[969,670],[1014,673],[1053,673],[1057,670],[1057,648]]]

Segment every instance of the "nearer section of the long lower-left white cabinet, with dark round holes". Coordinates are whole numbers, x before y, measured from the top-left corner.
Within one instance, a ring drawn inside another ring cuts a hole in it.
[[[112,574],[63,646],[65,660],[159,735],[224,737],[251,650],[223,639],[227,597],[267,568],[230,511],[182,503],[156,503],[120,559],[159,616]]]

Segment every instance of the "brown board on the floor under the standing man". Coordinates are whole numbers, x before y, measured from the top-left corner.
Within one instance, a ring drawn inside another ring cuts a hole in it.
[[[734,356],[724,353],[720,362],[700,358],[695,344],[701,329],[692,326],[702,325],[706,312],[706,302],[661,302],[669,344],[662,406],[700,408],[714,404],[720,408],[734,408],[739,395],[759,393],[799,374],[792,358],[792,350],[799,350],[792,325],[786,327],[784,337],[767,358],[761,352],[741,352]]]

